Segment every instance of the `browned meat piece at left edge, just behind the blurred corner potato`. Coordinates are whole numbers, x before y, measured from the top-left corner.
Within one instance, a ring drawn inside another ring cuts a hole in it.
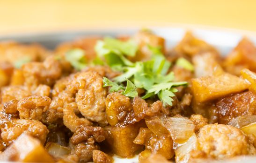
[[[8,120],[1,117],[0,127],[1,138],[7,145],[14,142],[22,133],[27,133],[30,136],[36,137],[42,144],[44,144],[46,136],[49,133],[49,130],[42,122],[27,119]]]

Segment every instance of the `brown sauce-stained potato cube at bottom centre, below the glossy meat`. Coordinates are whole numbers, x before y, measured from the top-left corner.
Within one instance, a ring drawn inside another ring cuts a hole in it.
[[[139,128],[144,126],[144,122],[137,122],[127,126],[107,126],[104,128],[108,133],[106,140],[117,155],[132,157],[137,150],[143,148],[142,145],[133,143],[133,140],[138,135]]]

